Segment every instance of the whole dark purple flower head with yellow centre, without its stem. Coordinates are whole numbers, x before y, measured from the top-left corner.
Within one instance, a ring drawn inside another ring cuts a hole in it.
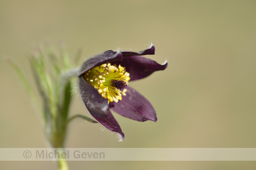
[[[80,94],[90,114],[107,129],[120,134],[122,140],[124,133],[109,109],[141,122],[157,120],[151,103],[128,87],[129,81],[166,69],[167,62],[161,65],[141,57],[154,54],[154,49],[151,45],[140,52],[108,50],[85,61],[79,72]]]

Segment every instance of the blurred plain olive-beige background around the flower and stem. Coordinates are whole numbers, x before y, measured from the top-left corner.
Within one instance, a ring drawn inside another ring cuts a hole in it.
[[[158,121],[114,113],[125,140],[76,119],[68,148],[256,148],[255,0],[0,0],[0,148],[45,148],[38,116],[9,57],[34,86],[29,51],[63,40],[83,60],[105,50],[156,47],[165,71],[129,83],[154,106]],[[58,48],[56,48],[58,50]],[[83,62],[81,61],[81,64]],[[77,96],[72,114],[89,116]],[[255,162],[69,162],[71,170],[254,170]],[[57,169],[54,162],[0,162],[0,169]]]

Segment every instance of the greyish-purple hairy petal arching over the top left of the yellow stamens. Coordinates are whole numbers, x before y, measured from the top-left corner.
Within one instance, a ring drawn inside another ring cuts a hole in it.
[[[101,54],[94,55],[91,58],[87,59],[81,67],[79,76],[81,76],[83,73],[87,72],[88,70],[98,65],[102,65],[107,62],[117,61],[122,59],[123,59],[123,55],[120,51],[117,51],[117,52],[114,52],[112,50],[104,51]]]

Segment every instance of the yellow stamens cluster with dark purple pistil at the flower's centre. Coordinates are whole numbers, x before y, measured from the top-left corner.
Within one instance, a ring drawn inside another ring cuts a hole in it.
[[[130,80],[130,74],[121,65],[103,64],[94,67],[83,74],[84,80],[90,83],[103,98],[109,102],[122,100],[122,95],[126,95],[125,87]]]

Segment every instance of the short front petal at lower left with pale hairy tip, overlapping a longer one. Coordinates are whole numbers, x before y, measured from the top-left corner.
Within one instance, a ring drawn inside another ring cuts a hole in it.
[[[85,81],[83,76],[79,76],[79,90],[83,102],[92,116],[108,116],[108,100],[102,98],[102,96],[98,93],[98,90]]]

